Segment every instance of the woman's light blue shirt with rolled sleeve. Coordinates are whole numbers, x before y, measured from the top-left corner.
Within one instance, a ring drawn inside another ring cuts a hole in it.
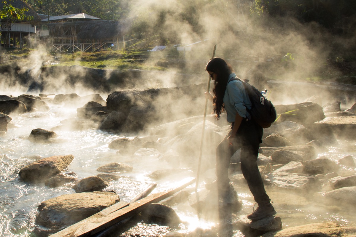
[[[235,122],[236,112],[239,113],[242,118],[251,119],[250,114],[246,111],[246,107],[251,109],[252,106],[242,81],[230,81],[232,77],[236,77],[236,74],[230,74],[224,95],[224,107],[227,113],[227,122],[229,123]]]

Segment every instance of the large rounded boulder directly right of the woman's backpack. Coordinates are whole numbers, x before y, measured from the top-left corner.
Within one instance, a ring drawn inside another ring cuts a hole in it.
[[[281,114],[281,117],[279,117],[279,122],[293,121],[306,126],[321,121],[325,118],[323,108],[319,104],[312,102],[288,105],[280,104],[274,107],[276,108],[277,114]],[[293,111],[291,113],[296,115],[284,114],[288,111]]]

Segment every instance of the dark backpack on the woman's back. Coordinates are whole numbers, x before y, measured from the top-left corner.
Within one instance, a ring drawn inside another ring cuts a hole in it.
[[[230,79],[230,81],[233,80],[242,81],[238,77]],[[274,108],[272,102],[266,99],[266,97],[263,96],[261,91],[257,90],[256,87],[244,81],[242,81],[242,84],[244,85],[245,91],[247,92],[247,95],[252,103],[252,108],[247,109],[247,112],[251,114],[251,118],[262,128],[269,128],[277,118],[276,109]]]

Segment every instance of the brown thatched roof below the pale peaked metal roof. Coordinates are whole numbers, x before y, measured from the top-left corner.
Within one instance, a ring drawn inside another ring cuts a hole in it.
[[[111,41],[122,37],[130,21],[77,21],[47,23],[49,36],[61,37],[65,32],[75,35],[79,40]]]

